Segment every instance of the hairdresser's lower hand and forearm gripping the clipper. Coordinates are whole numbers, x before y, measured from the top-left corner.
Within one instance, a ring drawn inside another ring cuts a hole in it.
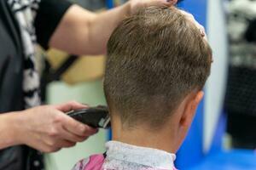
[[[84,141],[97,130],[63,114],[81,108],[84,105],[70,102],[0,115],[0,149],[26,144],[52,152]]]

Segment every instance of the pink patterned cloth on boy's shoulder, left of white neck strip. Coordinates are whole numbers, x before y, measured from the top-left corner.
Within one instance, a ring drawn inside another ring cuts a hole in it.
[[[96,154],[79,161],[73,170],[101,170],[104,160],[104,154]]]

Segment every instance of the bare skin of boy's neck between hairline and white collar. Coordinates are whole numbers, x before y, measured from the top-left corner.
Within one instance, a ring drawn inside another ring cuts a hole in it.
[[[159,131],[149,131],[143,127],[124,130],[120,125],[116,125],[116,122],[112,123],[113,140],[126,144],[165,150],[169,153],[176,153],[177,151],[177,144],[172,136],[171,128]]]

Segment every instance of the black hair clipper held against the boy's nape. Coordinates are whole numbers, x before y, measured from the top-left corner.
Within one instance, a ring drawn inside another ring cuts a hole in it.
[[[110,116],[108,114],[107,106],[96,106],[87,109],[75,110],[67,112],[68,116],[73,119],[89,125],[90,127],[109,128]]]

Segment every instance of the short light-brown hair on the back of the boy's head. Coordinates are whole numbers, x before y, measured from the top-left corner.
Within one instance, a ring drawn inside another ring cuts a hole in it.
[[[104,91],[123,128],[162,127],[210,74],[212,50],[177,8],[150,7],[124,20],[108,41]]]

